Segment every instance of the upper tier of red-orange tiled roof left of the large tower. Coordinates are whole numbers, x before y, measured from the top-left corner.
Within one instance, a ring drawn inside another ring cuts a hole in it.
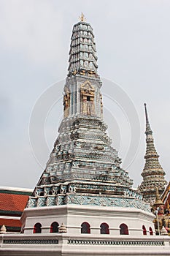
[[[6,194],[0,192],[0,211],[23,211],[28,195]]]

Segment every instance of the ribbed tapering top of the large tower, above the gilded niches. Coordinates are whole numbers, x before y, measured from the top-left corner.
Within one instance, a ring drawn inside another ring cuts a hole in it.
[[[80,22],[73,27],[71,40],[68,76],[85,75],[97,78],[98,65],[93,29],[89,23],[85,22],[83,13],[80,16]]]

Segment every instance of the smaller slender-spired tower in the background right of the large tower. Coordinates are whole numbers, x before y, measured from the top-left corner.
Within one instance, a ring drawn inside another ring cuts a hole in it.
[[[139,186],[139,192],[142,193],[144,200],[147,203],[154,203],[156,187],[158,187],[158,192],[161,195],[167,184],[164,176],[165,172],[159,163],[159,156],[155,150],[154,140],[152,136],[152,130],[150,128],[149,118],[147,114],[147,105],[144,103],[144,110],[146,116],[146,142],[147,150],[144,156],[146,160],[144,169],[142,171],[143,181]]]

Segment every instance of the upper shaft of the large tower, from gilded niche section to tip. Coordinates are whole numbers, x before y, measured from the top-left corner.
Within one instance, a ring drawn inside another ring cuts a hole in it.
[[[97,68],[93,28],[85,22],[85,15],[82,13],[80,22],[76,23],[72,30],[69,73],[63,89],[64,118],[73,116],[103,118],[101,80]]]

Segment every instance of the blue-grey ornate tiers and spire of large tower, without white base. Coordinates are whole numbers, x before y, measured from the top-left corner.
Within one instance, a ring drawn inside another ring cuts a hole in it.
[[[132,180],[120,167],[102,118],[96,61],[93,29],[82,18],[72,31],[63,121],[28,207],[87,204],[94,197],[96,205],[108,205],[112,196],[131,194]]]

